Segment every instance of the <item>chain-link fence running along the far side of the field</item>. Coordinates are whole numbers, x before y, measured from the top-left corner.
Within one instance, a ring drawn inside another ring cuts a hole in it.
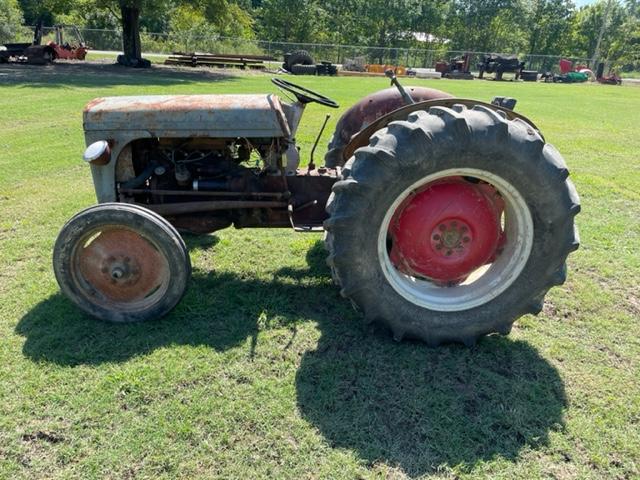
[[[121,51],[122,37],[118,30],[80,29],[84,42],[94,50]],[[72,31],[67,30],[65,41],[77,42]],[[33,27],[25,27],[20,38],[15,41],[30,41]],[[54,39],[54,29],[44,29],[43,41]],[[488,52],[449,50],[446,45],[425,43],[422,48],[369,47],[363,45],[333,45],[322,43],[290,43],[249,40],[227,37],[203,37],[185,33],[141,33],[142,51],[144,53],[171,54],[175,52],[208,52],[214,54],[251,54],[267,55],[281,62],[284,54],[294,50],[306,50],[316,62],[327,61],[344,64],[355,60],[360,64],[385,64],[410,68],[433,68],[438,61],[449,61],[464,54],[470,55],[470,68],[478,70],[483,55]],[[511,52],[525,62],[527,70],[539,72],[557,72],[558,62],[565,58],[574,65],[591,65],[586,58],[565,55],[528,55]]]

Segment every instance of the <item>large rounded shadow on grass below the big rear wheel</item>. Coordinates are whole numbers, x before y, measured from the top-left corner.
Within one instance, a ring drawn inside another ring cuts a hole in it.
[[[516,461],[564,428],[564,385],[522,341],[473,349],[394,344],[388,335],[325,331],[297,372],[298,407],[332,448],[410,477]]]

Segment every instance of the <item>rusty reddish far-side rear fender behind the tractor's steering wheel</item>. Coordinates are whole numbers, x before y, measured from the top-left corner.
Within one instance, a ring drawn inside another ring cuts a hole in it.
[[[433,88],[404,88],[406,92],[411,95],[414,102],[452,97],[452,95],[446,92]],[[329,142],[329,151],[324,157],[325,165],[327,167],[344,165],[345,160],[342,153],[344,147],[351,141],[351,138],[367,127],[367,125],[404,105],[405,103],[398,89],[396,87],[391,87],[367,95],[349,108],[342,117],[340,117],[336,124],[333,137]],[[346,158],[348,159],[349,157]]]

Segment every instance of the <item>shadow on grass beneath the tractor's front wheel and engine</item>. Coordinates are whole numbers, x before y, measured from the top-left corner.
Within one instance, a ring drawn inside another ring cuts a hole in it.
[[[184,238],[191,252],[218,242],[215,235]],[[325,255],[318,243],[308,257],[324,262]],[[16,332],[26,337],[27,357],[65,366],[124,362],[167,345],[207,345],[223,351],[247,338],[255,344],[260,329],[284,326],[293,331],[302,319],[322,317],[331,303],[342,303],[347,310],[348,305],[334,300],[337,292],[326,267],[321,268],[280,269],[270,281],[196,268],[180,304],[165,318],[142,323],[97,321],[56,293],[29,311]],[[278,325],[258,325],[264,312],[277,317]]]

